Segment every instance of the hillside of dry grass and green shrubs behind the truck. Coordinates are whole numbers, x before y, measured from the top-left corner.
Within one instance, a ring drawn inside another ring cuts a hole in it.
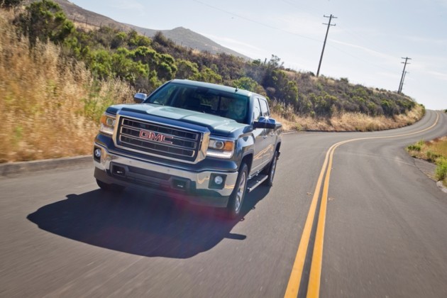
[[[84,155],[106,106],[194,79],[267,96],[287,130],[377,131],[424,115],[408,96],[289,70],[279,57],[197,53],[158,33],[76,26],[53,1],[0,1],[0,162]]]

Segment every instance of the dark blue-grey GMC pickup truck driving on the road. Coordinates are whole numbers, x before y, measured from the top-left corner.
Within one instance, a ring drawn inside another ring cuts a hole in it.
[[[101,189],[150,189],[237,217],[246,192],[272,186],[282,125],[264,96],[174,79],[136,104],[109,106],[94,140]]]

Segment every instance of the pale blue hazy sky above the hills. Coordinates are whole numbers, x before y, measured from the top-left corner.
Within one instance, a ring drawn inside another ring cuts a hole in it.
[[[410,57],[404,94],[447,109],[447,0],[72,0],[143,28],[188,28],[253,59],[280,57],[314,72],[329,18],[320,75],[396,91]]]

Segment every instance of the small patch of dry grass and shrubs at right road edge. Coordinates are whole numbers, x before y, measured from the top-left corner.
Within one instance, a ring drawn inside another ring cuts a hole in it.
[[[421,158],[436,164],[435,177],[442,180],[447,187],[447,136],[434,140],[419,142],[409,145],[407,151],[414,158]]]

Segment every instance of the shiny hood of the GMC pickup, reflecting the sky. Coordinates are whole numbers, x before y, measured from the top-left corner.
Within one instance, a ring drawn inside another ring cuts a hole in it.
[[[248,126],[244,123],[238,123],[233,119],[213,114],[179,109],[173,106],[160,106],[158,104],[118,104],[109,106],[107,109],[107,112],[110,114],[118,114],[119,111],[138,113],[141,114],[141,118],[149,115],[204,126],[211,133],[219,136],[229,136],[231,133]]]

